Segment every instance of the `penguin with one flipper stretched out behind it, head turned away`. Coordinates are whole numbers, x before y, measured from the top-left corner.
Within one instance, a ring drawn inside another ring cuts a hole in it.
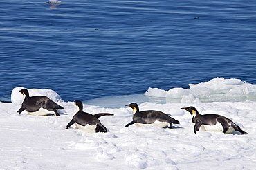
[[[95,133],[95,132],[107,132],[107,128],[100,123],[101,116],[113,116],[113,114],[88,114],[84,111],[82,102],[79,100],[75,100],[75,105],[77,107],[77,113],[73,116],[72,120],[66,125],[66,129],[71,127],[75,123],[75,126],[87,133]]]

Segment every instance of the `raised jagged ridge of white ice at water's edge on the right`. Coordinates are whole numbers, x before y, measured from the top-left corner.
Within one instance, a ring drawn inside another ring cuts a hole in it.
[[[175,99],[181,103],[245,100],[256,99],[256,85],[235,78],[214,78],[208,82],[190,84],[189,89],[179,87],[165,91],[149,87],[145,95],[166,98],[170,103]]]

